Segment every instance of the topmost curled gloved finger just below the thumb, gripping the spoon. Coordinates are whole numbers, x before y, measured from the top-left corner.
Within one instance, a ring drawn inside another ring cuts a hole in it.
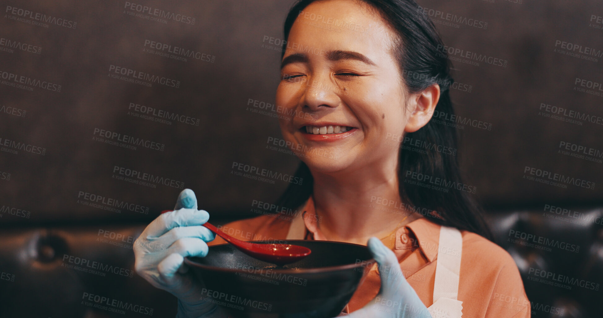
[[[154,240],[174,227],[202,225],[208,220],[209,213],[205,210],[183,208],[165,212],[148,224],[147,228],[140,236]]]

